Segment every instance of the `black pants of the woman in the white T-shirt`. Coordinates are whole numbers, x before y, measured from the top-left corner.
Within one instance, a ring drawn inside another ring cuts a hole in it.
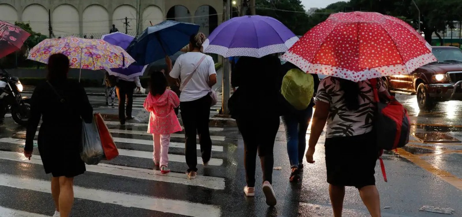
[[[202,160],[208,162],[212,154],[212,140],[208,129],[211,100],[210,96],[206,95],[194,101],[180,102],[181,119],[186,138],[185,155],[188,172],[197,171],[196,133],[199,135]]]

